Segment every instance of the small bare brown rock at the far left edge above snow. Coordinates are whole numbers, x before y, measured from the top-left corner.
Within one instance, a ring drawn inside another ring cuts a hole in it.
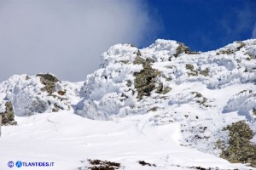
[[[14,107],[10,101],[5,103],[5,111],[0,113],[2,115],[3,125],[16,125]]]

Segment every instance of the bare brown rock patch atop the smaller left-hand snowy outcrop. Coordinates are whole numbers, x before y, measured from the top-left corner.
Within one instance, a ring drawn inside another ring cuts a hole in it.
[[[41,88],[43,92],[48,92],[53,94],[55,92],[55,82],[60,82],[56,77],[47,73],[47,74],[38,74],[37,77],[40,77],[40,81],[44,84],[44,88]]]

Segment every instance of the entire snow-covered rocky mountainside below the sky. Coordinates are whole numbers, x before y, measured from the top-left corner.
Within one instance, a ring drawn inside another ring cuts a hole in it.
[[[205,53],[168,40],[117,44],[101,66],[84,82],[47,73],[0,83],[3,124],[16,124],[2,127],[0,168],[256,167],[255,39]]]

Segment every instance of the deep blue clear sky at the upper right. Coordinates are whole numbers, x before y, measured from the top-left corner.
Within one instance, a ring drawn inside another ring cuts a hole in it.
[[[157,37],[195,51],[252,38],[256,27],[255,0],[148,0],[148,6],[161,20]]]

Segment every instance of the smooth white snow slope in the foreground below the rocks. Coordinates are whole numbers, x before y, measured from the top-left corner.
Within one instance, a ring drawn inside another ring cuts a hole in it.
[[[253,169],[180,146],[180,124],[154,126],[148,121],[152,116],[127,116],[108,122],[84,119],[67,111],[17,117],[19,126],[3,127],[0,167],[11,169],[7,167],[9,161],[54,161],[54,167],[41,168],[71,170],[89,166],[87,159],[101,159],[119,162],[124,169],[131,170],[199,166]],[[137,163],[142,160],[156,167]]]

